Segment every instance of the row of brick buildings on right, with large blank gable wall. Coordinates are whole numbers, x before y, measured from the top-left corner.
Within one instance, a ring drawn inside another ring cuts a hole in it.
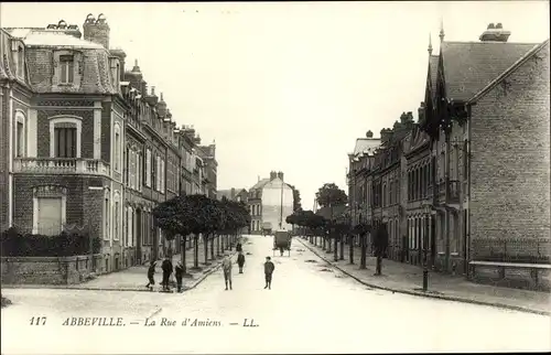
[[[446,42],[441,31],[419,122],[350,157],[349,184],[361,173],[371,192],[350,194],[352,206],[387,224],[390,258],[467,275],[506,239],[509,255],[549,258],[549,40],[509,35],[491,24],[480,42]]]

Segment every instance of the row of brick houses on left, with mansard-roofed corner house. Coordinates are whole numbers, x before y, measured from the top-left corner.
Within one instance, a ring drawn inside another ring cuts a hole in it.
[[[126,71],[105,17],[89,14],[83,32],[63,20],[0,31],[0,224],[98,236],[109,272],[180,250],[151,209],[205,192],[206,173],[195,131],[176,128],[137,61]]]

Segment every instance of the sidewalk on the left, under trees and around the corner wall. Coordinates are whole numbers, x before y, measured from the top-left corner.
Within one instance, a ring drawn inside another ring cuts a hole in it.
[[[246,238],[242,238],[246,240]],[[187,275],[183,279],[183,289],[191,290],[199,284],[207,276],[216,271],[222,265],[222,260],[225,256],[234,256],[236,254],[235,248],[233,250],[224,250],[223,255],[216,257],[216,240],[215,240],[215,259],[210,259],[210,245],[208,245],[208,265],[205,265],[205,249],[203,243],[198,245],[198,266],[199,270],[193,268],[193,252],[194,248],[185,251],[186,258],[186,272]],[[172,257],[172,263],[175,267],[177,261],[182,260],[182,255],[176,254]],[[162,261],[158,261],[155,266],[155,286],[153,291],[159,291],[161,289],[162,280]],[[133,266],[128,269],[123,269],[116,272],[110,272],[106,275],[100,275],[96,279],[78,283],[78,284],[2,284],[2,288],[43,288],[43,289],[75,289],[75,290],[108,290],[108,291],[144,291],[151,292],[145,284],[148,283],[148,265]],[[174,275],[172,275],[174,279]],[[174,280],[175,282],[175,280]]]

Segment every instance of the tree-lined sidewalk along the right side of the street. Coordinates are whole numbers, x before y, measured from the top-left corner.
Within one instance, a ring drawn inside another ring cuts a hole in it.
[[[359,260],[361,252],[358,247],[354,248],[354,265],[350,265],[349,246],[347,245],[345,245],[345,260],[335,262],[333,261],[333,252],[326,254],[320,246],[315,247],[302,238],[296,239],[323,260],[357,281],[372,288],[544,315],[551,314],[551,294],[547,292],[479,284],[469,282],[462,276],[454,277],[432,271],[429,272],[429,291],[423,292],[423,269],[418,266],[382,259],[382,276],[374,276],[376,258],[368,255],[367,269],[360,270]]]

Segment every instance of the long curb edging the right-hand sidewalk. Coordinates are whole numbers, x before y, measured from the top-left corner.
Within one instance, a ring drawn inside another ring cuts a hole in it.
[[[383,286],[377,286],[374,283],[369,283],[369,282],[366,282],[366,281],[355,277],[354,275],[349,273],[348,271],[344,270],[338,265],[335,265],[333,261],[327,260],[324,256],[320,255],[317,252],[317,250],[314,250],[313,247],[311,247],[310,245],[306,245],[303,240],[299,239],[299,241],[303,246],[309,248],[309,250],[312,251],[313,254],[315,254],[318,258],[321,258],[325,262],[329,263],[332,267],[338,269],[341,272],[353,278],[354,280],[358,281],[359,283],[363,283],[363,284],[368,286],[368,287],[374,288],[374,289],[404,293],[404,294],[417,295],[417,297],[439,299],[439,300],[443,300],[443,301],[455,301],[455,302],[463,302],[463,303],[471,303],[471,304],[495,306],[495,308],[500,308],[500,309],[508,309],[508,310],[520,311],[520,312],[525,312],[525,313],[551,315],[551,311],[534,310],[534,309],[530,309],[530,308],[526,308],[526,306],[521,306],[521,305],[511,305],[511,304],[506,304],[506,303],[489,303],[486,301],[478,301],[478,300],[473,300],[473,299],[467,299],[467,298],[460,298],[460,297],[455,297],[455,295],[431,294],[431,293],[409,291],[409,290],[403,290],[403,289],[392,289],[392,288],[388,288],[388,287],[383,287]]]

